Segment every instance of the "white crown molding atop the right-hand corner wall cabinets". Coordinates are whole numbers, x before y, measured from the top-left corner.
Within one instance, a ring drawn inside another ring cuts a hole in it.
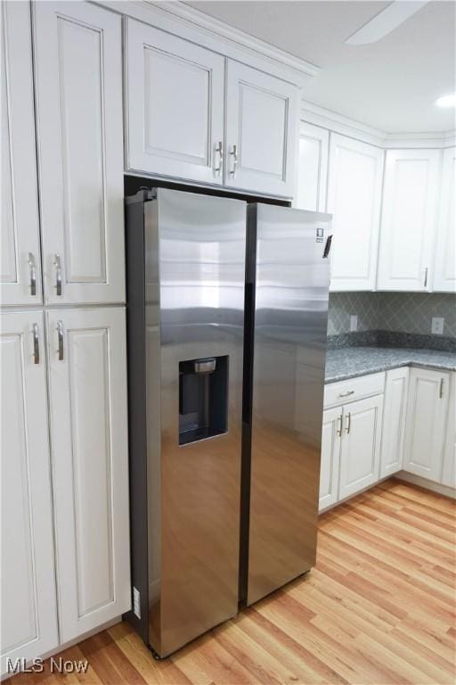
[[[301,100],[301,120],[384,149],[444,148],[456,144],[456,131],[387,133],[305,100]]]

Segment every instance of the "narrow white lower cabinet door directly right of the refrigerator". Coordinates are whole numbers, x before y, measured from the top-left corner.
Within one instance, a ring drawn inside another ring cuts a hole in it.
[[[323,411],[320,510],[338,501],[338,466],[342,419],[342,407]]]

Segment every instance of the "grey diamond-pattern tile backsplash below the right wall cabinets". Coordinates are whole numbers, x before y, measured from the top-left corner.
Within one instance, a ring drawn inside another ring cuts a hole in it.
[[[451,293],[330,293],[328,335],[348,333],[351,314],[358,317],[358,331],[425,335],[431,333],[431,319],[443,317],[444,336],[456,338],[456,295]]]

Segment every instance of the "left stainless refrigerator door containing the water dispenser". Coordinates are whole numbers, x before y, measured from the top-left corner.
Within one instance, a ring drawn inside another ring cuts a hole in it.
[[[238,610],[245,202],[145,204],[149,639],[167,656]]]

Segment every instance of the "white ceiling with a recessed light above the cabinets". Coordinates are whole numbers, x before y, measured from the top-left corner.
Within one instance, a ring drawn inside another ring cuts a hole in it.
[[[344,41],[388,2],[191,0],[186,4],[321,67],[305,88],[305,100],[387,133],[455,128],[454,109],[433,104],[456,89],[453,0],[433,0],[378,43],[356,46]]]

